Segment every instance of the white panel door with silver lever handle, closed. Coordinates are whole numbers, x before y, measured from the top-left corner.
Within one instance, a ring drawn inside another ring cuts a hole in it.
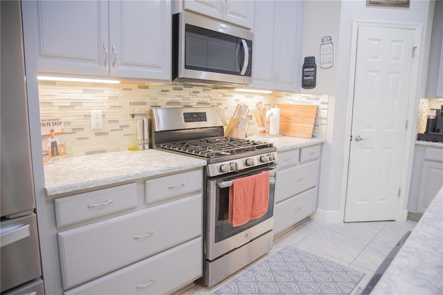
[[[407,168],[414,35],[400,28],[358,29],[345,222],[395,220]]]

